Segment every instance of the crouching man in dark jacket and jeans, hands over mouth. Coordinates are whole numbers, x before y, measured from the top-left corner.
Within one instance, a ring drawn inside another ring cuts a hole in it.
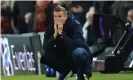
[[[85,80],[83,73],[89,79],[92,55],[82,36],[82,26],[68,15],[61,6],[54,9],[54,24],[44,34],[41,63],[57,70],[58,80],[64,80],[70,70],[77,73],[78,80]]]

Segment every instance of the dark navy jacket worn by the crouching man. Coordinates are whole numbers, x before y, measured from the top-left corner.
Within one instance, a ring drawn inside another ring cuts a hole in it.
[[[77,47],[85,48],[91,57],[90,50],[83,38],[82,26],[75,19],[68,17],[64,24],[63,33],[61,35],[62,38],[59,35],[56,38],[62,39],[60,42],[57,43],[56,40],[54,40],[53,34],[54,25],[52,24],[44,34],[43,49],[45,54],[41,58],[41,63],[47,64],[59,72],[67,72],[70,70],[75,71],[74,69],[76,69],[73,65],[71,54]],[[58,48],[56,45],[58,44],[63,46],[60,47],[61,51],[56,50]],[[62,50],[65,50],[64,53],[62,53]]]

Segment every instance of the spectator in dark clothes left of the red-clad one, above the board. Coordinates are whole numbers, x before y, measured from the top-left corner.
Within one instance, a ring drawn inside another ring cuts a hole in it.
[[[25,16],[34,12],[34,1],[15,1],[13,6],[13,23],[20,33],[27,33]]]

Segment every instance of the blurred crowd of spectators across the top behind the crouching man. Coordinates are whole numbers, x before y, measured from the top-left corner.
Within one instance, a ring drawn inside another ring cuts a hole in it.
[[[4,1],[1,0],[1,33],[45,32],[53,22],[53,9],[61,5],[72,12],[82,25],[90,22],[94,13],[117,15],[127,21],[132,1]]]

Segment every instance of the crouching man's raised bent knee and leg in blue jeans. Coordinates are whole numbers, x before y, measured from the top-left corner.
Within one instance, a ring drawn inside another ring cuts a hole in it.
[[[84,48],[76,48],[72,52],[74,64],[77,67],[78,80],[85,80],[83,72],[86,73],[88,79],[91,77],[92,56],[89,54]]]

